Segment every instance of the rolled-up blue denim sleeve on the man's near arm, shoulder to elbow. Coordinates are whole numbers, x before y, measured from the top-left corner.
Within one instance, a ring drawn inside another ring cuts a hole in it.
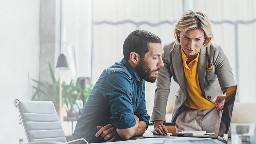
[[[99,91],[109,103],[110,121],[118,129],[135,126],[136,120],[132,107],[132,78],[124,71],[109,74]]]

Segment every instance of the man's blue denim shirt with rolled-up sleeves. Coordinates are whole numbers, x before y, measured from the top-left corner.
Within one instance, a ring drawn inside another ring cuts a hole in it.
[[[105,142],[97,125],[112,123],[118,129],[135,126],[139,120],[149,124],[145,104],[145,80],[140,79],[133,67],[125,60],[104,69],[90,93],[77,120],[72,140],[85,138],[90,142]]]

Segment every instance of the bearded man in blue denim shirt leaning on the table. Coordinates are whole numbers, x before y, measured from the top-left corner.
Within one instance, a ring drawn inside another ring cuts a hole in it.
[[[78,118],[72,139],[111,142],[144,134],[149,124],[145,81],[155,82],[163,66],[161,40],[136,30],[124,41],[121,62],[105,69]]]

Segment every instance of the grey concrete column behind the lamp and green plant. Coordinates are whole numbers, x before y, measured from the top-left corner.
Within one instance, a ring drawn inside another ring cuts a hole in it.
[[[39,80],[52,82],[48,63],[54,70],[60,49],[60,0],[40,0],[39,25]]]

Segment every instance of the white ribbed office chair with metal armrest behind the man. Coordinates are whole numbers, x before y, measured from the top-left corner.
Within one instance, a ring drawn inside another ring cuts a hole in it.
[[[80,138],[67,142],[59,117],[52,101],[30,101],[15,99],[29,144],[67,144],[83,141]]]

